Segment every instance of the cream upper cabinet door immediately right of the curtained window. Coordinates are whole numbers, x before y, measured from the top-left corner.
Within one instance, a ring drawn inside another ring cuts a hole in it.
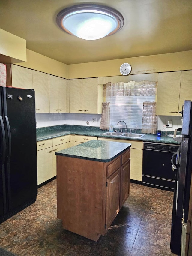
[[[178,116],[181,71],[159,73],[156,115]]]

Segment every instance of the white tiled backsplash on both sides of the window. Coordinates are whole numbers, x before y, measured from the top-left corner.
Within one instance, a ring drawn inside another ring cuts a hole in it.
[[[92,122],[92,118],[96,119],[96,122]],[[172,121],[172,128],[164,127],[168,125],[168,121]],[[89,125],[87,126],[100,126],[101,114],[79,114],[79,113],[37,113],[36,122],[38,127],[46,127],[53,125]],[[175,131],[177,128],[181,128],[182,121],[181,116],[158,116],[158,130],[161,131]]]

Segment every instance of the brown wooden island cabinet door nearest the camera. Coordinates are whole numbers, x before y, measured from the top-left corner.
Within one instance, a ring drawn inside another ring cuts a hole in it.
[[[107,178],[106,183],[106,232],[119,212],[120,168]]]

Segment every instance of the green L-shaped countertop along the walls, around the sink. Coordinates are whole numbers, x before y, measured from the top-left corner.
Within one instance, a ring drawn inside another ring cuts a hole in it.
[[[173,138],[170,138],[168,136],[158,137],[157,135],[152,135],[152,134],[145,134],[142,138],[101,135],[102,133],[105,133],[107,131],[108,130],[101,130],[99,127],[94,127],[94,126],[56,125],[56,126],[37,128],[37,141],[52,139],[55,137],[60,137],[68,134],[78,134],[78,135],[114,138],[114,139],[122,139],[122,140],[139,140],[143,142],[179,144],[177,141],[174,141]],[[137,131],[137,133],[141,133],[141,132]]]

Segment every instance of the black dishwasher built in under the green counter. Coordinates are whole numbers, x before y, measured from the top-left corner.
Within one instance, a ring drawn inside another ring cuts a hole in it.
[[[171,158],[178,148],[179,145],[173,144],[143,143],[143,185],[174,191],[175,173]]]

